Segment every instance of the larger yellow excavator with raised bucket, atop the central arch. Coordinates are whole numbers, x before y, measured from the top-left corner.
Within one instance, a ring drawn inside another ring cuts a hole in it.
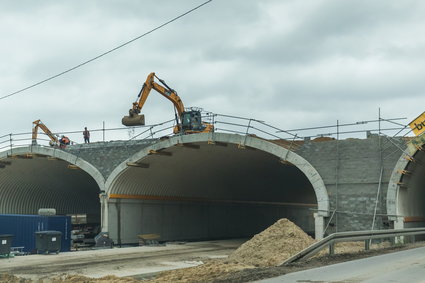
[[[162,85],[156,83],[157,78]],[[143,126],[145,125],[145,115],[140,114],[150,91],[154,89],[159,94],[170,100],[176,109],[176,126],[173,129],[174,134],[193,134],[193,133],[209,133],[214,131],[214,126],[202,122],[201,111],[197,109],[185,110],[184,105],[177,92],[170,88],[163,80],[158,78],[154,72],[150,73],[138,94],[138,100],[133,103],[133,107],[129,110],[129,116],[124,116],[121,120],[124,126]],[[140,115],[139,115],[140,114]]]

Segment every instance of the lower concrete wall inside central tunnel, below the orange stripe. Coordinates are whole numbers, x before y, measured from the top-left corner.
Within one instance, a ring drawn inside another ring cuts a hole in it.
[[[137,243],[139,234],[159,234],[161,241],[244,238],[286,217],[314,235],[312,214],[296,206],[111,199],[109,232],[122,244]]]

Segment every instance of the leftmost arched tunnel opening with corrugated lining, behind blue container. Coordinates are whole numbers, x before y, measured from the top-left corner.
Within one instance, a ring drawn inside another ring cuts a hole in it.
[[[75,229],[88,237],[100,231],[99,185],[84,170],[42,154],[9,155],[0,159],[0,214],[37,215],[54,208],[70,215]]]

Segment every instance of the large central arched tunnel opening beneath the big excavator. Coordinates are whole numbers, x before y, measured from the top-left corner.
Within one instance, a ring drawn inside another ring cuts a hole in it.
[[[108,191],[116,243],[245,238],[280,218],[314,236],[317,199],[296,166],[232,143],[196,142],[128,163]]]

